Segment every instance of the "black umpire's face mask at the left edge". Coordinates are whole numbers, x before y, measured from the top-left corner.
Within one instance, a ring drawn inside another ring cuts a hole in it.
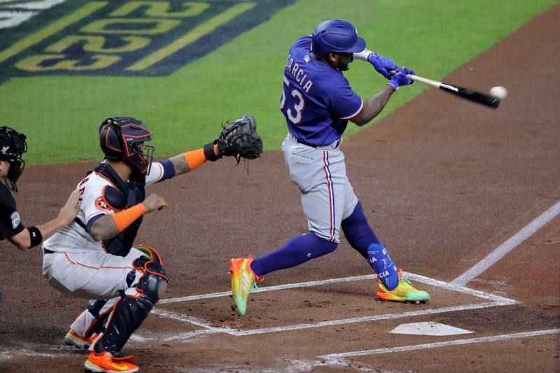
[[[21,134],[13,128],[0,127],[0,159],[10,162],[6,185],[9,181],[8,188],[14,192],[18,192],[15,182],[18,181],[25,168],[25,160],[22,157],[22,154],[27,152],[25,139],[25,134]]]

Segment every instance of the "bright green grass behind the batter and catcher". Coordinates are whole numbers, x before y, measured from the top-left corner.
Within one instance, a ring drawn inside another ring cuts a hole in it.
[[[371,50],[442,79],[556,2],[302,0],[164,78],[13,78],[0,85],[0,123],[27,134],[28,164],[99,160],[97,128],[112,115],[146,122],[158,157],[200,148],[221,122],[245,113],[257,119],[265,150],[277,150],[286,134],[279,97],[288,48],[319,22],[348,20]],[[346,76],[364,100],[384,86],[369,64],[351,64]],[[399,90],[376,121],[425,89]]]

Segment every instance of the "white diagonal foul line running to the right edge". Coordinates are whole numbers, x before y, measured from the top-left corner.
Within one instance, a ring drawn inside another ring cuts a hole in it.
[[[498,262],[504,255],[512,251],[516,246],[521,244],[521,242],[531,237],[535,232],[544,227],[550,220],[556,218],[560,213],[560,202],[556,202],[554,206],[542,213],[538,218],[535,218],[531,223],[528,223],[523,229],[521,229],[513,237],[507,239],[503,244],[495,248],[491,253],[486,255],[482,260],[477,262],[476,265],[470,267],[465,273],[458,276],[456,279],[451,281],[451,283],[456,283],[458,285],[465,285],[470,280],[475,279],[479,274],[486,271],[494,263]]]

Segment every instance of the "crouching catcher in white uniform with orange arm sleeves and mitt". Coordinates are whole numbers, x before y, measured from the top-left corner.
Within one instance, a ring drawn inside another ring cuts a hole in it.
[[[223,156],[254,159],[262,152],[255,119],[245,115],[223,128],[203,148],[152,162],[152,134],[134,118],[109,118],[99,127],[105,160],[76,189],[78,216],[43,243],[43,274],[60,292],[90,300],[64,337],[90,348],[85,369],[137,372],[134,356],[120,353],[167,288],[162,256],[150,246],[133,246],[145,213],[167,207],[162,197],[145,197],[159,183]]]

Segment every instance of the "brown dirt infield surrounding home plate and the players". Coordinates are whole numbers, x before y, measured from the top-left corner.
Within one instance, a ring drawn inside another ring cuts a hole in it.
[[[559,18],[556,5],[445,79],[505,85],[498,110],[431,89],[342,144],[367,218],[430,292],[428,304],[377,300],[363,277],[370,269],[343,240],[331,255],[269,274],[268,291],[238,318],[223,294],[228,260],[307,229],[281,153],[251,162],[248,176],[225,160],[151,187],[171,209],[147,215],[137,242],[160,250],[171,283],[125,346],[141,372],[560,372],[558,216],[472,280],[453,282],[560,201]],[[55,216],[93,166],[26,169],[24,223]],[[38,252],[6,242],[1,251],[0,371],[80,372],[87,353],[62,338],[87,302],[48,286]],[[471,333],[389,333],[420,321]]]

